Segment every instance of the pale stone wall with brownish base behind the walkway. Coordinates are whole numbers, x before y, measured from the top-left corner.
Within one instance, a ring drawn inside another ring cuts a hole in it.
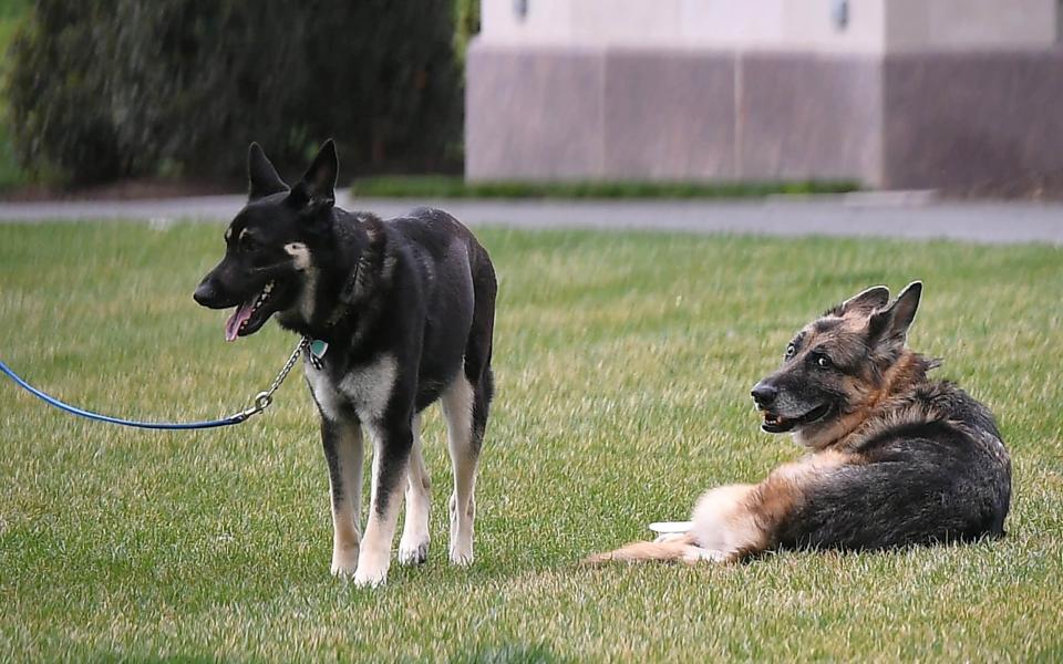
[[[523,21],[484,1],[469,179],[963,188],[1063,173],[1054,1],[852,0],[844,30],[819,11],[832,0],[528,0]]]

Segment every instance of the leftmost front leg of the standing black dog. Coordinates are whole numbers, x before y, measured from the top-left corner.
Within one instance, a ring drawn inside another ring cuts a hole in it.
[[[362,428],[355,419],[322,416],[321,443],[329,464],[332,574],[353,574],[361,530]]]

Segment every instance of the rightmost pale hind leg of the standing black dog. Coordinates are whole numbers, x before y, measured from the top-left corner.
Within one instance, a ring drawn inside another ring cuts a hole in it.
[[[454,492],[451,494],[451,562],[467,566],[473,562],[473,520],[476,517],[476,464],[479,443],[486,424],[477,427],[476,388],[460,374],[440,400],[446,418],[446,437],[454,465]]]

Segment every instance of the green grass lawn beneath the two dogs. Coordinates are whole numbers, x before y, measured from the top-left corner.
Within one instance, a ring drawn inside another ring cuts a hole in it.
[[[250,424],[182,434],[86,423],[4,382],[0,660],[1063,657],[1063,251],[479,235],[502,294],[472,569],[446,562],[435,408],[430,561],[361,591],[329,575],[326,466],[298,377]],[[107,413],[227,413],[293,340],[269,325],[223,342],[225,314],[190,297],[220,250],[217,226],[0,226],[0,357]],[[750,386],[827,305],[916,278],[912,344],[993,407],[1011,447],[1008,538],[576,564],[796,458],[758,430]]]

